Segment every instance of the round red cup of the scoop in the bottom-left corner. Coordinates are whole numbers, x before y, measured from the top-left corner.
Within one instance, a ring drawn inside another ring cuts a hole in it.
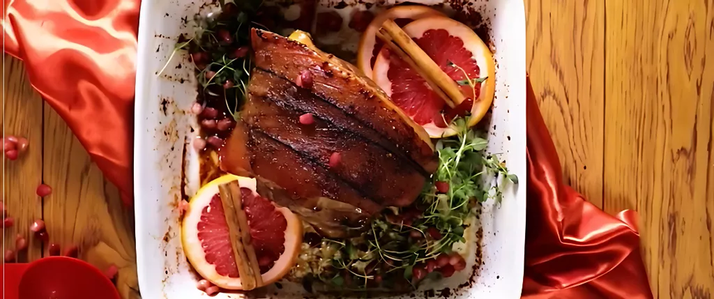
[[[22,299],[120,299],[114,283],[93,265],[51,256],[30,263],[20,279]]]

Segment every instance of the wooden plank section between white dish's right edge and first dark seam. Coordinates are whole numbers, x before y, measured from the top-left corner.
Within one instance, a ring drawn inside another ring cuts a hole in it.
[[[526,67],[565,179],[603,207],[604,1],[526,3]]]

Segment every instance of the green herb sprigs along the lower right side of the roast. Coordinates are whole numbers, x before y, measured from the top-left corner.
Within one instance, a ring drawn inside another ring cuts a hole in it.
[[[395,271],[414,287],[416,281],[412,281],[412,276],[415,267],[423,267],[426,261],[451,253],[455,243],[466,242],[464,220],[473,216],[476,204],[488,198],[501,200],[498,183],[485,187],[482,182],[488,178],[498,180],[503,175],[509,181],[518,183],[516,175],[508,173],[505,163],[498,161],[498,156],[484,153],[488,141],[481,134],[468,128],[463,118],[457,118],[454,123],[456,136],[436,143],[439,166],[431,181],[424,186],[415,206],[386,211],[392,216],[403,216],[401,221],[380,216],[372,221],[371,229],[359,238],[343,242],[325,239],[343,253],[333,258],[333,270],[343,271],[343,274],[358,279],[360,289],[368,288],[368,280],[373,280],[376,275],[388,275]],[[444,182],[448,183],[448,191],[438,193],[436,184]],[[411,221],[406,216],[410,211],[419,213]],[[434,228],[441,238],[434,238],[428,233]],[[414,238],[415,233],[418,238]],[[346,281],[339,275],[322,280],[328,285],[345,288]]]

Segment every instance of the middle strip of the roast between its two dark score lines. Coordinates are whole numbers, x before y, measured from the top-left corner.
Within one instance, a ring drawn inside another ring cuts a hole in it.
[[[298,121],[301,111],[282,108],[270,96],[251,93],[251,103],[242,114],[251,130],[283,143],[377,203],[401,206],[418,196],[416,190],[421,189],[424,178],[408,163],[321,118],[315,118],[311,125],[302,125]],[[329,161],[335,153],[342,157],[341,163],[331,166]],[[380,176],[386,172],[393,175],[386,179]]]

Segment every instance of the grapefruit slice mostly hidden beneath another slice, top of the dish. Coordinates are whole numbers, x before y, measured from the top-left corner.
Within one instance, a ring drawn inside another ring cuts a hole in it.
[[[383,43],[377,39],[376,34],[384,21],[388,19],[394,20],[399,26],[409,24],[411,21],[421,19],[426,16],[443,16],[440,11],[431,9],[428,6],[422,5],[401,5],[394,6],[391,9],[378,14],[369,23],[367,29],[362,34],[359,40],[357,49],[357,67],[368,77],[372,77],[372,66],[376,59],[379,49]]]

